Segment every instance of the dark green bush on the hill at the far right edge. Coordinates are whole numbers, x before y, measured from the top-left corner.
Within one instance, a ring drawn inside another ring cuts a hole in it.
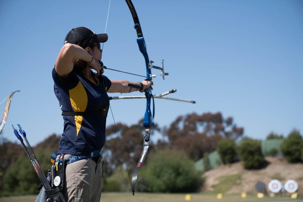
[[[281,151],[289,163],[301,161],[302,136],[299,131],[293,130],[281,144]]]

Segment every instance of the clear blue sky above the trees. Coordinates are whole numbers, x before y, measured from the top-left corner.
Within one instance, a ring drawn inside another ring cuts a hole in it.
[[[105,31],[108,3],[0,2],[0,101],[12,91],[21,91],[13,97],[1,136],[16,141],[10,125],[17,123],[32,145],[62,133],[53,65],[72,28]],[[303,1],[133,0],[133,4],[150,60],[160,65],[164,59],[169,72],[165,81],[160,76],[153,80],[153,93],[176,88],[171,97],[197,102],[156,99],[155,122],[160,126],[192,112],[221,112],[232,116],[252,138],[264,139],[271,131],[285,136],[293,128],[303,132]],[[105,66],[145,75],[124,0],[112,0],[106,33]],[[110,70],[104,75],[142,81]],[[115,121],[130,125],[143,117],[146,102],[115,100],[111,105]],[[4,107],[5,102],[1,113]],[[107,124],[112,123],[109,115]]]

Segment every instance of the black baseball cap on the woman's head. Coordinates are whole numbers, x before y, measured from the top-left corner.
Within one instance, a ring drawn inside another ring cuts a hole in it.
[[[95,34],[86,27],[77,27],[68,32],[64,39],[64,44],[71,43],[86,48],[96,43],[104,43],[107,39],[107,34]]]

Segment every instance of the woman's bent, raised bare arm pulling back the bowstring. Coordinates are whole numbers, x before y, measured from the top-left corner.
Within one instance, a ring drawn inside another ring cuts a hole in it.
[[[57,56],[55,65],[55,70],[60,78],[64,79],[68,77],[69,73],[73,70],[76,59],[89,62],[92,60],[92,56],[78,45],[65,44]]]

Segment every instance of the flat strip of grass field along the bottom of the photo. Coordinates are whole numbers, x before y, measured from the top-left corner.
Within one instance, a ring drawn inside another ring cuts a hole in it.
[[[26,195],[18,197],[2,197],[0,198],[1,202],[33,202],[36,199],[36,195]],[[192,202],[261,202],[261,201],[275,201],[275,202],[284,202],[284,201],[294,201],[294,202],[303,202],[303,198],[291,199],[290,197],[264,197],[263,199],[258,199],[256,196],[248,195],[247,198],[243,199],[240,195],[223,195],[223,199],[217,199],[215,194],[191,194]],[[121,193],[121,192],[105,192],[102,193],[101,197],[102,202],[184,202],[185,194],[146,194],[146,193],[135,193],[135,196],[132,196],[132,193]]]

